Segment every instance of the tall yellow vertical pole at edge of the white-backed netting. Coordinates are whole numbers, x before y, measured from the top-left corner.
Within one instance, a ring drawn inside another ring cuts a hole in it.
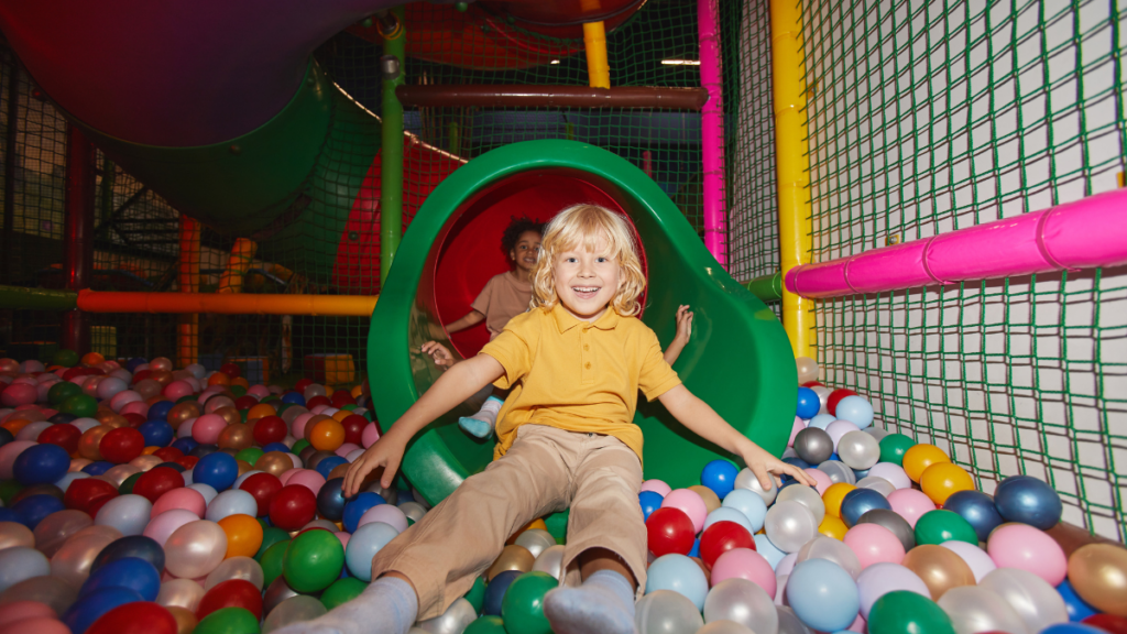
[[[782,274],[810,261],[810,166],[800,8],[771,0],[771,73]],[[814,302],[783,288],[782,324],[795,356],[815,359]]]

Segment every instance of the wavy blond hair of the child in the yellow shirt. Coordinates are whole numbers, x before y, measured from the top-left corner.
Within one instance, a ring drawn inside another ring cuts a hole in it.
[[[595,249],[601,236],[605,236],[605,255],[621,267],[619,288],[611,300],[611,308],[624,317],[641,312],[638,298],[646,290],[646,275],[641,272],[638,257],[638,241],[633,229],[621,214],[596,204],[577,204],[556,214],[544,227],[540,241],[540,257],[532,270],[532,301],[530,308],[551,309],[559,301],[556,296],[553,265],[560,253],[579,245]]]

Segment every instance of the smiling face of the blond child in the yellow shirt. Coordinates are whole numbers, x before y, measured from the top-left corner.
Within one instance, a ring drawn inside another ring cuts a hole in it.
[[[607,253],[605,236],[593,252],[576,245],[556,256],[552,280],[560,303],[576,319],[594,322],[606,310],[619,290],[620,266]]]

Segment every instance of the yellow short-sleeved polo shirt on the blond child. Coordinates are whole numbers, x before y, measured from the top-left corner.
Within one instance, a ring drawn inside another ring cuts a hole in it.
[[[638,390],[654,400],[681,385],[654,331],[613,309],[588,323],[559,303],[534,308],[514,317],[480,354],[505,368],[494,385],[513,388],[497,415],[495,459],[513,446],[517,428],[532,423],[613,435],[641,460],[641,429],[633,423]]]

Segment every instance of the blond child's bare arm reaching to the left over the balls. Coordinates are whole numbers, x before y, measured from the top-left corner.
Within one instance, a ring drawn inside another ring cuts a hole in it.
[[[384,488],[391,486],[403,459],[407,442],[431,421],[454,408],[482,387],[494,382],[505,369],[496,359],[487,354],[478,354],[456,363],[445,375],[431,386],[431,389],[415,402],[407,412],[396,421],[375,444],[367,448],[363,456],[348,467],[345,474],[344,493],[350,497],[360,492],[364,477],[373,470],[383,467],[380,484]]]

